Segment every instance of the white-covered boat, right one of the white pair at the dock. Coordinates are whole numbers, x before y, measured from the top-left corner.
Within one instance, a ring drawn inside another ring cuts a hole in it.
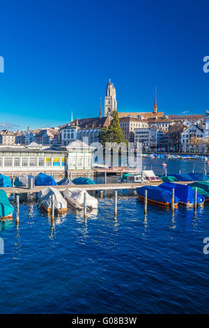
[[[97,209],[98,200],[89,195],[84,188],[68,188],[63,192],[63,195],[73,207],[82,209],[84,207],[84,193],[86,193],[86,206]]]

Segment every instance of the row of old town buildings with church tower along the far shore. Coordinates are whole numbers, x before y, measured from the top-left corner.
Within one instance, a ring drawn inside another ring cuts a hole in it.
[[[111,115],[117,110],[116,89],[109,80],[104,98],[104,116],[100,103],[99,117],[75,119],[56,128],[36,131],[0,131],[0,144],[27,145],[31,142],[43,146],[68,146],[73,140],[100,142],[100,129],[108,128]],[[165,115],[157,112],[157,96],[152,112],[118,112],[119,124],[129,142],[141,142],[144,151],[208,151],[209,112],[206,115]]]

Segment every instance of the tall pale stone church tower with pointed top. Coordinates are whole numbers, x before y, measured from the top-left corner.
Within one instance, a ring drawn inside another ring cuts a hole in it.
[[[109,79],[104,98],[104,116],[108,116],[111,119],[111,114],[114,110],[117,110],[116,88]]]

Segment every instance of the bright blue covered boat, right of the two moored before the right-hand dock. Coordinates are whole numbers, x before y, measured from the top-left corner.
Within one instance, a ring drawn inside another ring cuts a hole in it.
[[[188,186],[187,184],[175,184],[173,182],[164,182],[160,184],[160,188],[164,189],[165,191],[172,192],[172,189],[175,190],[175,195],[179,199],[180,204],[184,204],[187,206],[194,206],[194,190]],[[198,205],[202,205],[205,201],[205,198],[197,193],[196,195],[196,203]]]

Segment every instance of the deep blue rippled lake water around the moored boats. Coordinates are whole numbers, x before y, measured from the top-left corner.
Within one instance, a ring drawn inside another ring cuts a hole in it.
[[[194,161],[168,161],[178,165],[188,172]],[[86,223],[69,208],[53,225],[33,197],[22,199],[19,228],[0,223],[0,313],[208,313],[208,214],[207,204],[174,215],[148,204],[144,218],[137,195],[121,191],[116,219],[107,192]]]

